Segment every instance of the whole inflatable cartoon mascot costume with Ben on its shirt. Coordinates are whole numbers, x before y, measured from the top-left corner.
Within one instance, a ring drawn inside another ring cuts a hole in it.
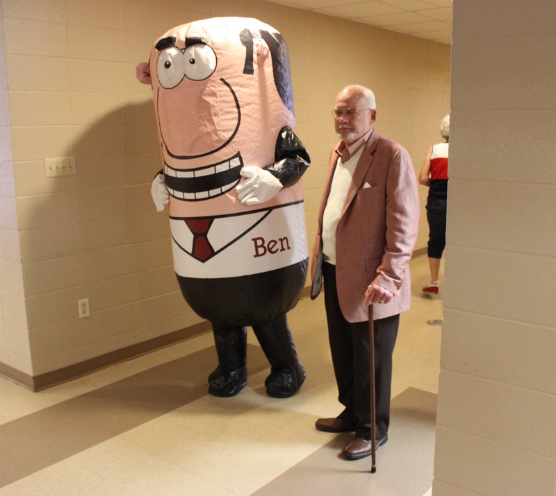
[[[179,287],[213,325],[208,392],[247,383],[250,325],[268,395],[291,396],[305,379],[286,312],[306,275],[299,179],[310,159],[293,132],[287,46],[256,19],[205,19],[156,40],[137,76],[152,85],[164,169],[151,193],[158,211],[169,203]]]

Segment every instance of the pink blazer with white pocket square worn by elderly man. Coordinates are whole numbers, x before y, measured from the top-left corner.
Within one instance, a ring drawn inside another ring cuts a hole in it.
[[[320,201],[311,259],[311,299],[322,284],[322,215],[338,155],[332,148]],[[357,162],[336,229],[336,284],[342,314],[349,322],[368,320],[365,291],[374,282],[394,293],[374,305],[375,319],[411,307],[409,260],[419,224],[419,197],[411,157],[399,144],[373,130]]]

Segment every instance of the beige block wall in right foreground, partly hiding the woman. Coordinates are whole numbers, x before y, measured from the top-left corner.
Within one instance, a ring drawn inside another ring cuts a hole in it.
[[[556,495],[555,19],[454,2],[434,496]]]

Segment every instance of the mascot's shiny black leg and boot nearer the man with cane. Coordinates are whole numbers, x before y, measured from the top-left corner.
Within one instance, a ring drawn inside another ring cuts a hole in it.
[[[265,380],[266,392],[272,397],[290,397],[305,380],[305,370],[297,358],[286,316],[270,324],[254,325],[256,339],[270,362]]]

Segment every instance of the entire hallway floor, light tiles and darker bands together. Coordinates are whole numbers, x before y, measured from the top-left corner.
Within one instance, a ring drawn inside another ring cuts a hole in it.
[[[442,303],[421,296],[426,257],[411,262],[411,273],[393,421],[376,474],[367,473],[369,458],[338,456],[348,435],[314,428],[340,411],[320,296],[288,316],[307,379],[287,400],[265,395],[268,364],[252,331],[248,384],[232,398],[206,394],[210,333],[39,393],[0,379],[0,496],[422,496],[432,484],[441,336],[427,320],[442,318]]]

